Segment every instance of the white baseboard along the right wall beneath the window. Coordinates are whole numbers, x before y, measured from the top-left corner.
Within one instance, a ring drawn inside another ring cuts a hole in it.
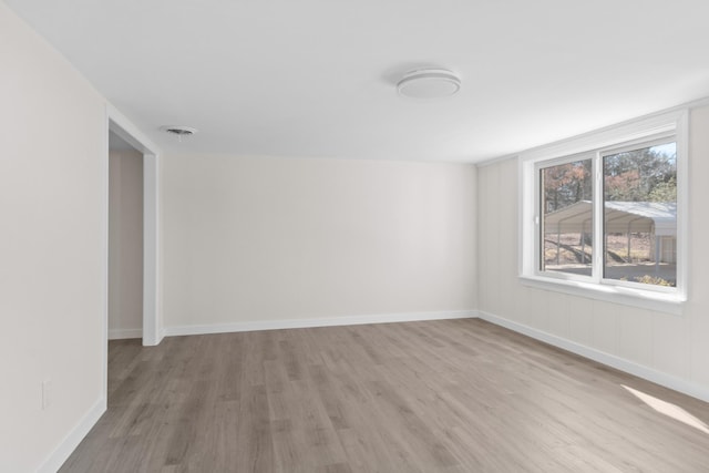
[[[579,354],[584,358],[588,358],[599,363],[607,364],[620,371],[634,374],[638,378],[653,381],[657,384],[664,385],[675,391],[691,395],[692,398],[709,402],[709,389],[695,384],[685,379],[665,373],[662,371],[658,371],[654,368],[649,368],[630,360],[626,360],[625,358],[620,358],[615,354],[609,354],[604,351],[596,350],[595,348],[586,347],[585,345],[576,343],[575,341],[571,341],[565,338],[557,337],[555,335],[547,333],[545,331],[537,330],[535,328],[517,323],[515,321],[492,313],[484,312],[482,310],[477,311],[477,317],[491,323],[507,328],[518,333],[526,335],[527,337],[532,337],[534,339],[553,345],[554,347],[558,347],[573,353]]]

